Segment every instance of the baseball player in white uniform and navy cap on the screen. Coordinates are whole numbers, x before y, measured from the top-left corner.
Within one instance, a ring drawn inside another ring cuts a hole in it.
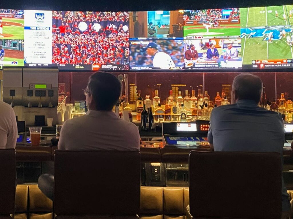
[[[153,65],[154,67],[160,69],[170,69],[171,67],[175,67],[171,56],[164,52],[158,51],[158,45],[154,42],[150,42],[146,47],[146,52],[148,55],[153,56]]]

